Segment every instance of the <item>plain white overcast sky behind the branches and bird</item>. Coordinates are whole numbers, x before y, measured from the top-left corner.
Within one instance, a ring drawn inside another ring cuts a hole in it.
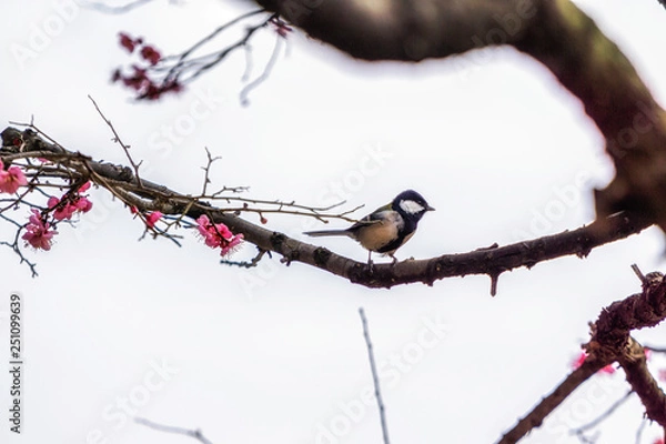
[[[294,32],[250,107],[239,100],[241,52],[176,98],[134,103],[129,91],[109,83],[111,70],[130,60],[118,46],[119,31],[178,52],[249,4],[154,1],[121,16],[70,9],[62,31],[21,64],[11,46],[28,44],[34,29],[57,17],[59,3],[26,4],[0,7],[4,124],[33,115],[64,147],[127,163],[91,94],[134,157],[145,160],[144,176],[181,192],[199,192],[204,147],[223,158],[214,184],[251,185],[253,198],[313,205],[346,199],[350,208],[366,204],[362,216],[413,188],[437,211],[400,259],[575,229],[594,216],[592,188],[613,174],[579,102],[514,51],[371,65]],[[656,0],[578,4],[665,103],[666,11]],[[253,75],[273,42],[271,32],[256,39]],[[163,125],[182,122],[201,100],[210,115],[164,145]],[[370,152],[384,154],[370,162]],[[139,220],[102,192],[92,200],[77,230],[63,225],[51,252],[30,254],[39,278],[0,250],[0,291],[24,299],[26,347],[23,434],[8,432],[3,413],[2,442],[194,442],[123,422],[129,416],[118,403],[125,398],[139,416],[201,427],[216,444],[381,443],[375,404],[362,404],[372,382],[359,306],[386,375],[392,442],[494,442],[567,374],[587,322],[638,291],[629,265],[663,266],[663,236],[650,229],[583,261],[558,259],[504,274],[494,299],[483,276],[369,290],[297,263],[285,268],[278,258],[249,272],[221,266],[218,253],[191,232],[182,233],[182,249],[165,240],[137,242]],[[270,216],[268,226],[304,239],[302,231],[322,225]],[[12,235],[6,225],[0,234]],[[366,256],[346,239],[316,242]],[[252,254],[245,246],[236,258]],[[445,334],[427,330],[437,323],[447,325]],[[7,344],[6,319],[0,326]],[[666,344],[663,329],[635,336]],[[7,349],[0,346],[2,356]],[[155,363],[174,372],[162,379]],[[620,397],[622,380],[593,379],[524,442],[577,443],[569,425]],[[625,405],[601,428],[601,442],[633,442],[642,412],[636,400]],[[92,438],[98,435],[107,441]],[[646,430],[644,442],[657,435]]]

